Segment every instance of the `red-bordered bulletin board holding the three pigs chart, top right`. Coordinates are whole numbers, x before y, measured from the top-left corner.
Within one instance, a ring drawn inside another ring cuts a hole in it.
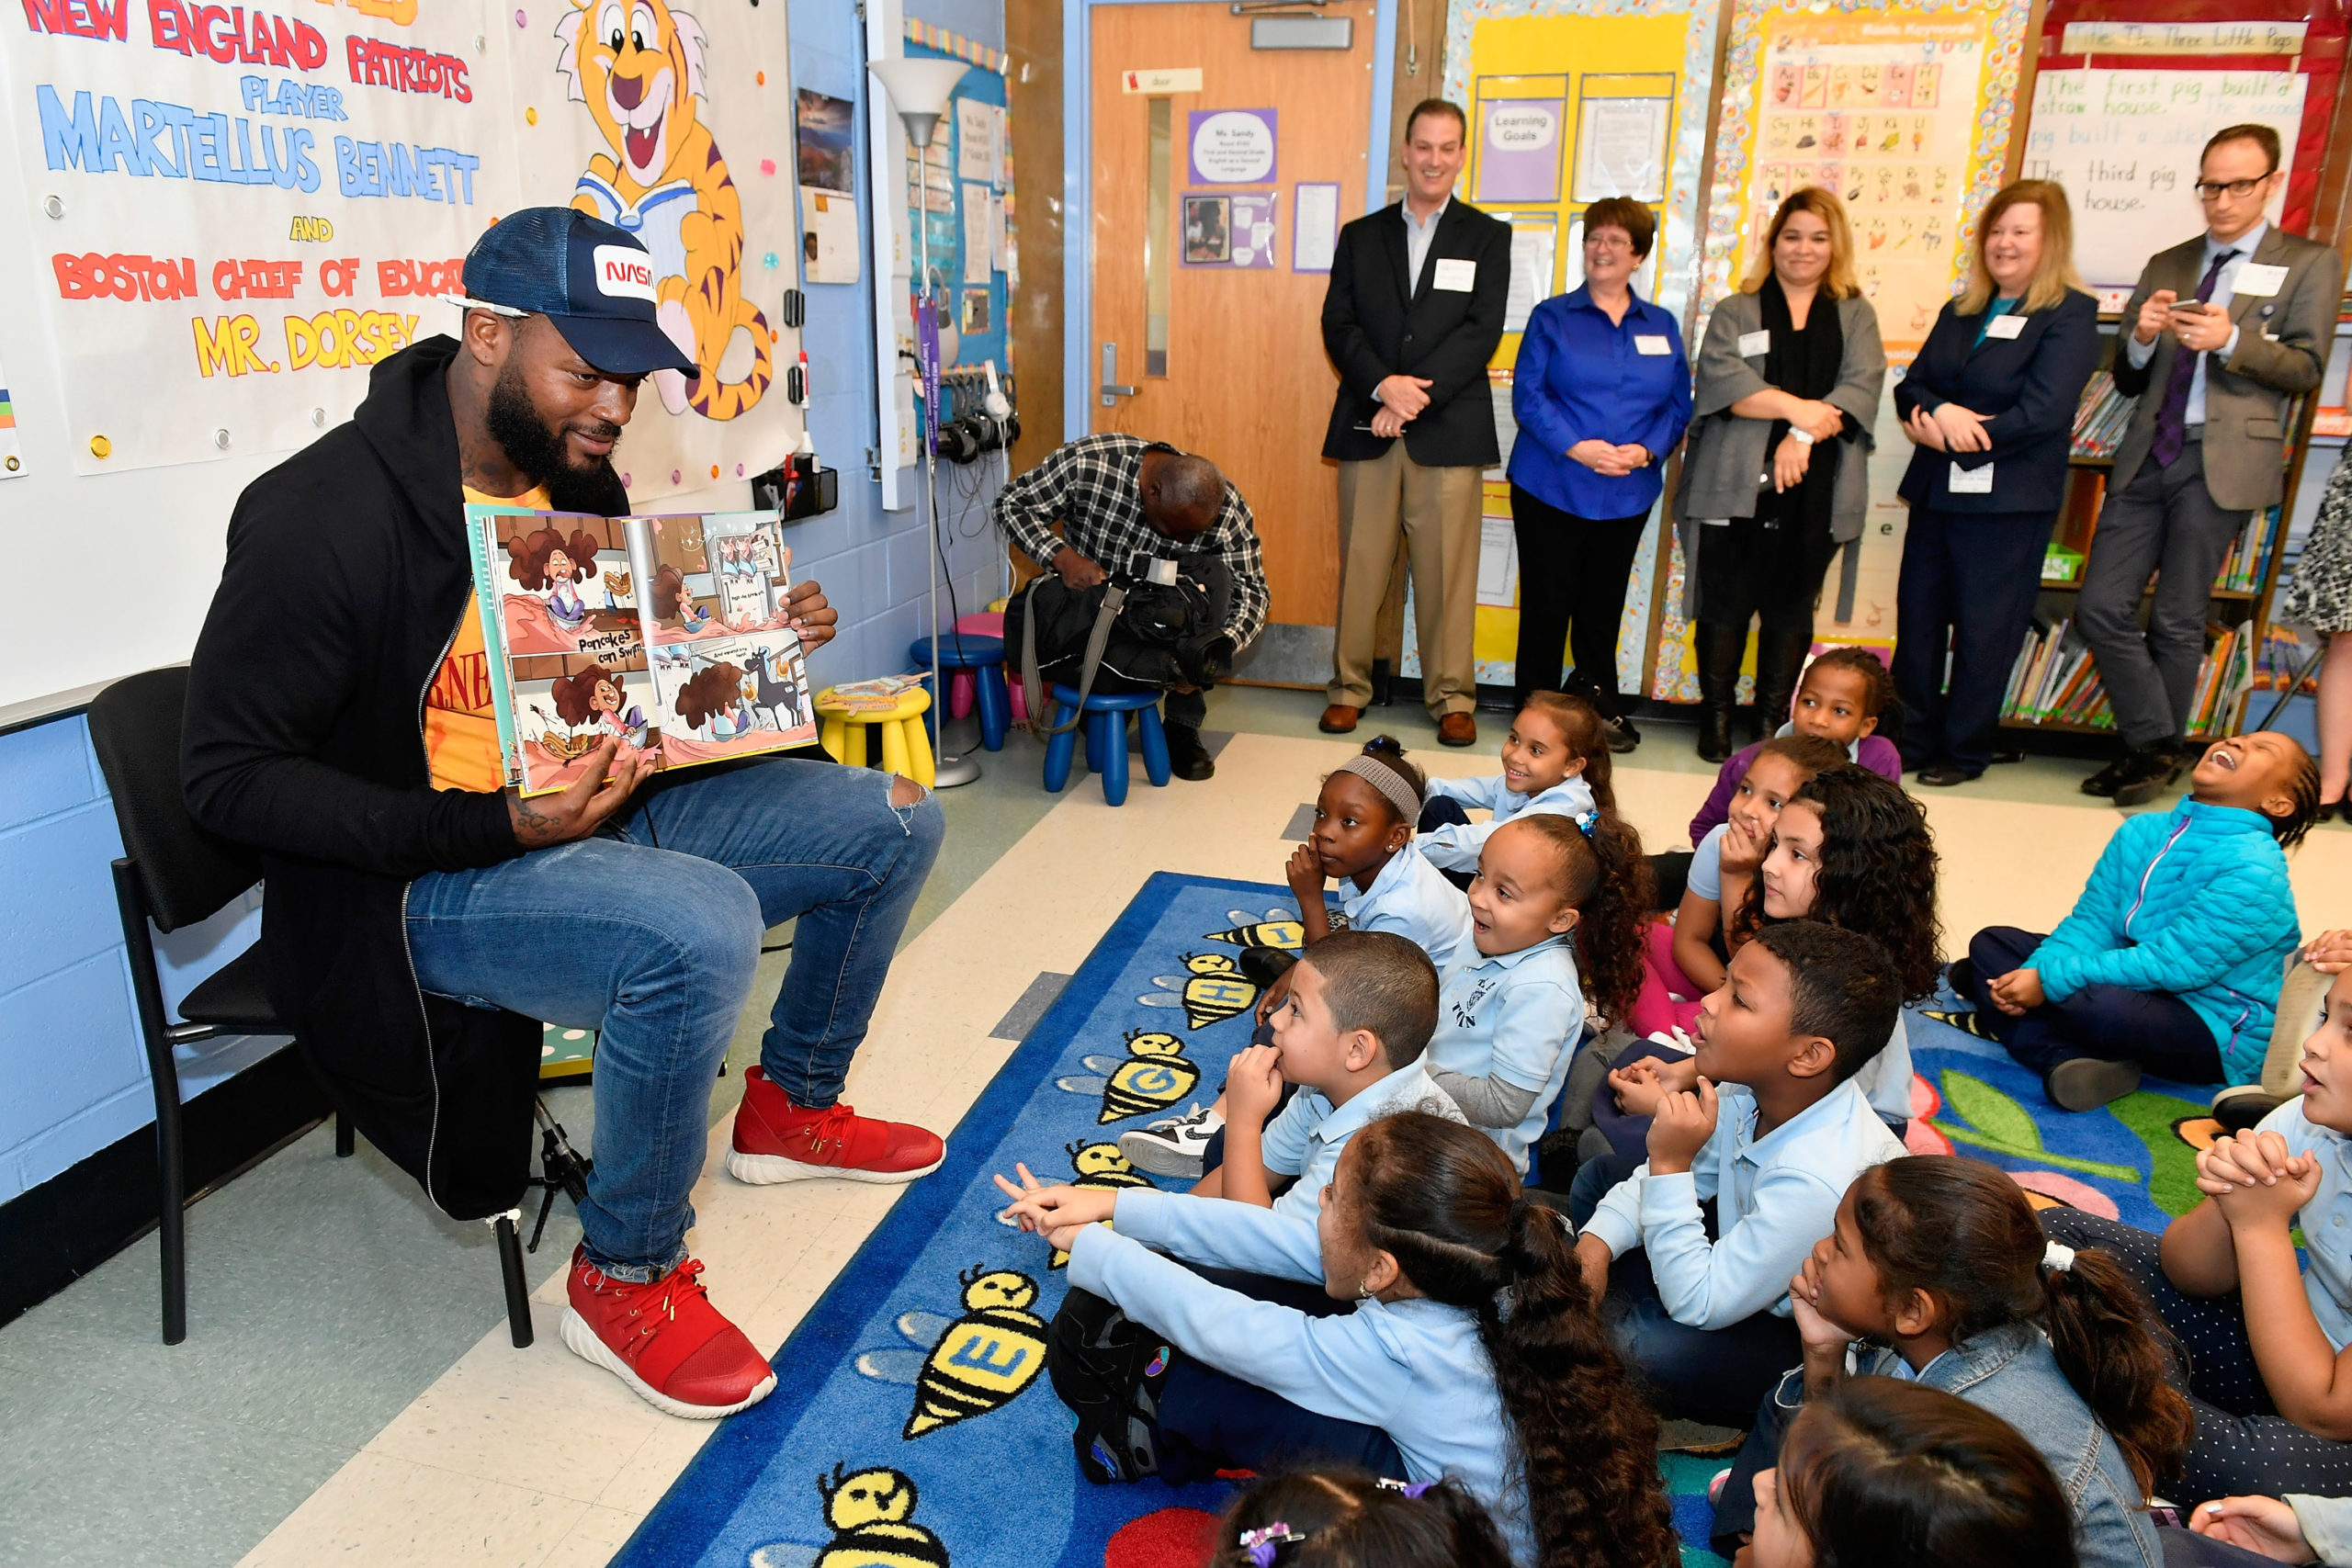
[[[2023,174],[2067,188],[2077,233],[2098,240],[2074,259],[2107,308],[2204,226],[2197,158],[2227,125],[2279,132],[2288,179],[2270,221],[2310,228],[2343,47],[2343,0],[2051,2]]]

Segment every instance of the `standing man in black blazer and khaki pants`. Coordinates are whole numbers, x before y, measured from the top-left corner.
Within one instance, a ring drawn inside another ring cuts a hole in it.
[[[1404,200],[1338,230],[1324,350],[1338,400],[1338,630],[1322,729],[1371,701],[1371,642],[1404,529],[1421,701],[1446,745],[1475,745],[1479,470],[1503,461],[1486,362],[1503,341],[1510,226],[1454,197],[1468,120],[1444,99],[1404,120]]]

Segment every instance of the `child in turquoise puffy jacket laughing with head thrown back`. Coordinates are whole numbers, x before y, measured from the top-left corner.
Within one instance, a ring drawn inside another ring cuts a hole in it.
[[[2213,743],[2166,813],[2126,818],[2074,912],[2049,936],[1987,926],[1952,966],[1978,1034],[2042,1074],[2065,1110],[2140,1086],[2251,1084],[2296,950],[2286,849],[2319,804],[2319,769],[2288,736]]]

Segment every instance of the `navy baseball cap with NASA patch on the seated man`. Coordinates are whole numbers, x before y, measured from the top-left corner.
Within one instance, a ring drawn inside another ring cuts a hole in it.
[[[626,228],[574,207],[524,207],[466,256],[461,306],[543,315],[581,360],[612,376],[699,374],[654,315],[654,256]]]

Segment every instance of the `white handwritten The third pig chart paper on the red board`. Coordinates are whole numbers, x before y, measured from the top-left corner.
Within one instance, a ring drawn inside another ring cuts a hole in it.
[[[2267,125],[2293,169],[2307,85],[2300,71],[2044,71],[2023,176],[2065,186],[2084,282],[2131,287],[2150,256],[2204,230],[2197,158],[2213,132]],[[2272,223],[2284,205],[2281,179]]]

